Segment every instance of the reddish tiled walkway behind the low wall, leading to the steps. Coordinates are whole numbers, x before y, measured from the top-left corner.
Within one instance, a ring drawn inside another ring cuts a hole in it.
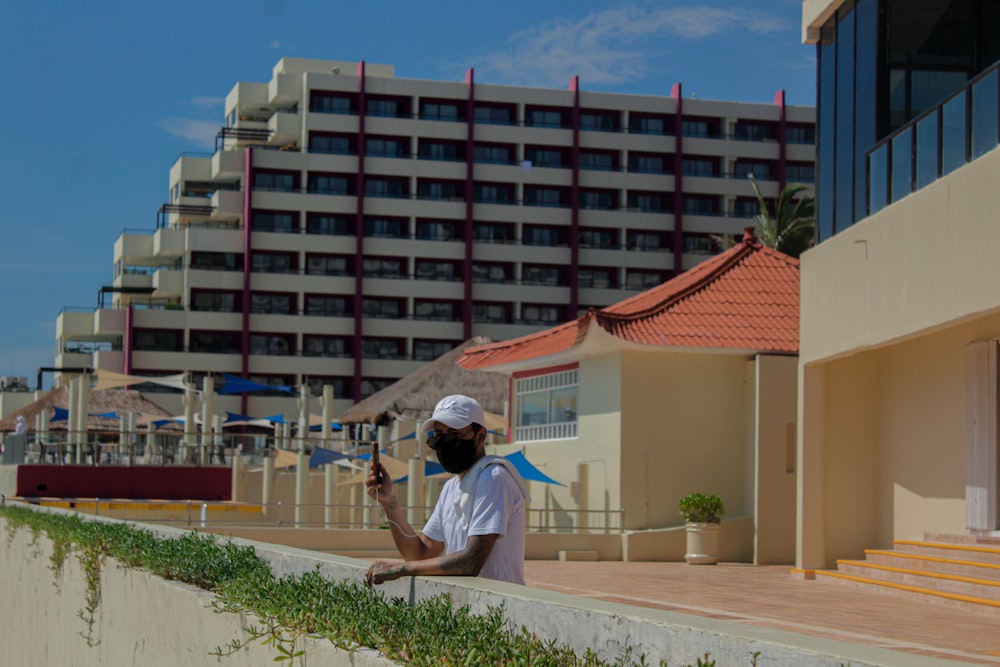
[[[736,563],[528,561],[529,586],[896,651],[1000,665],[1000,616]]]

